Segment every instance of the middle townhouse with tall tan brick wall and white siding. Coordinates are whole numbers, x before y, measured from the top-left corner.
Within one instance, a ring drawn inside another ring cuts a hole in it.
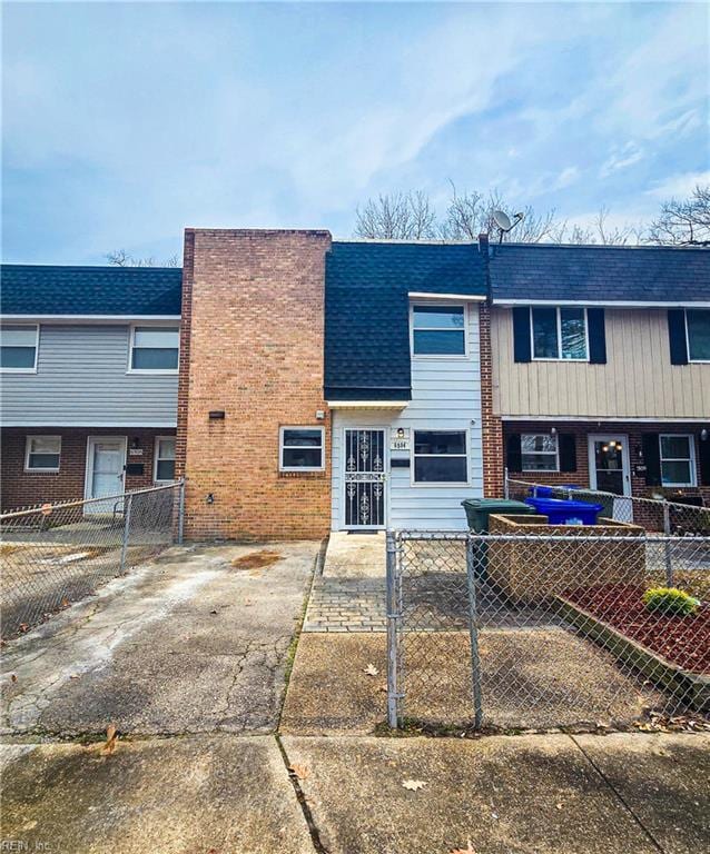
[[[485,297],[475,245],[189,229],[188,535],[463,528],[485,489]]]

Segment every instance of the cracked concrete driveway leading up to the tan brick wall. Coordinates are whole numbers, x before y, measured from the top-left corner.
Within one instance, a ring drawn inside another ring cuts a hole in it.
[[[318,543],[172,548],[7,645],[6,735],[275,729]]]

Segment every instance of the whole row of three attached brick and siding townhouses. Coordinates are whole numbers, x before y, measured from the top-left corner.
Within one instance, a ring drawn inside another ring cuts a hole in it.
[[[710,499],[708,249],[187,229],[183,270],[6,265],[1,368],[3,507],[185,476],[194,538],[462,529],[504,467]]]

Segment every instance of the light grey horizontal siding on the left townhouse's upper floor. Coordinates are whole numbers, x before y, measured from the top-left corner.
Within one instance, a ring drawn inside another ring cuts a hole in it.
[[[42,324],[37,373],[2,375],[2,424],[175,427],[177,374],[127,373],[129,340],[128,324]]]

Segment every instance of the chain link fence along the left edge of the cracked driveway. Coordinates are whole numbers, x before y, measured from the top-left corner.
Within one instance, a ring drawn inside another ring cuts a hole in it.
[[[0,515],[2,637],[183,539],[184,483]]]

